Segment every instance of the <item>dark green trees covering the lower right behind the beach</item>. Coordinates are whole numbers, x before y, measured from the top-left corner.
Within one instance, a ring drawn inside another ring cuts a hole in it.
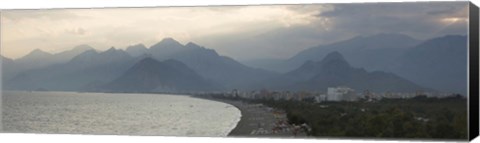
[[[225,98],[225,97],[224,97]],[[466,139],[467,101],[417,96],[375,102],[240,99],[282,109],[292,124],[306,123],[316,137]]]

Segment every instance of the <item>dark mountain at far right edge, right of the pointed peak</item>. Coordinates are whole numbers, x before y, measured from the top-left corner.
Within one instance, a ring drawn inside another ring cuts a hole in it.
[[[409,49],[392,71],[419,85],[466,95],[467,36],[447,35]]]

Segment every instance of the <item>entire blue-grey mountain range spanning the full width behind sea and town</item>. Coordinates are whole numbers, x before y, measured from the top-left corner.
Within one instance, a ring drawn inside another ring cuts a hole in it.
[[[378,92],[466,93],[466,36],[425,41],[401,34],[358,36],[285,60],[245,65],[195,43],[165,38],[147,48],[96,51],[88,45],[50,54],[2,56],[4,88],[108,92],[318,90],[348,86]],[[178,81],[176,81],[178,80]]]

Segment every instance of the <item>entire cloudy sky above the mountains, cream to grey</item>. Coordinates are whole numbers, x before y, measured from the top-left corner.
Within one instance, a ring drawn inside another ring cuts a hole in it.
[[[467,2],[8,10],[1,54],[147,47],[165,37],[238,60],[289,58],[359,35],[401,33],[420,40],[467,34]]]

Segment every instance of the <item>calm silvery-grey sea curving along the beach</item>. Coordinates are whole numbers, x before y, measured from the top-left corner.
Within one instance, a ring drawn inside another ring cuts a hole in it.
[[[3,130],[22,133],[226,136],[232,105],[188,96],[3,92]]]

